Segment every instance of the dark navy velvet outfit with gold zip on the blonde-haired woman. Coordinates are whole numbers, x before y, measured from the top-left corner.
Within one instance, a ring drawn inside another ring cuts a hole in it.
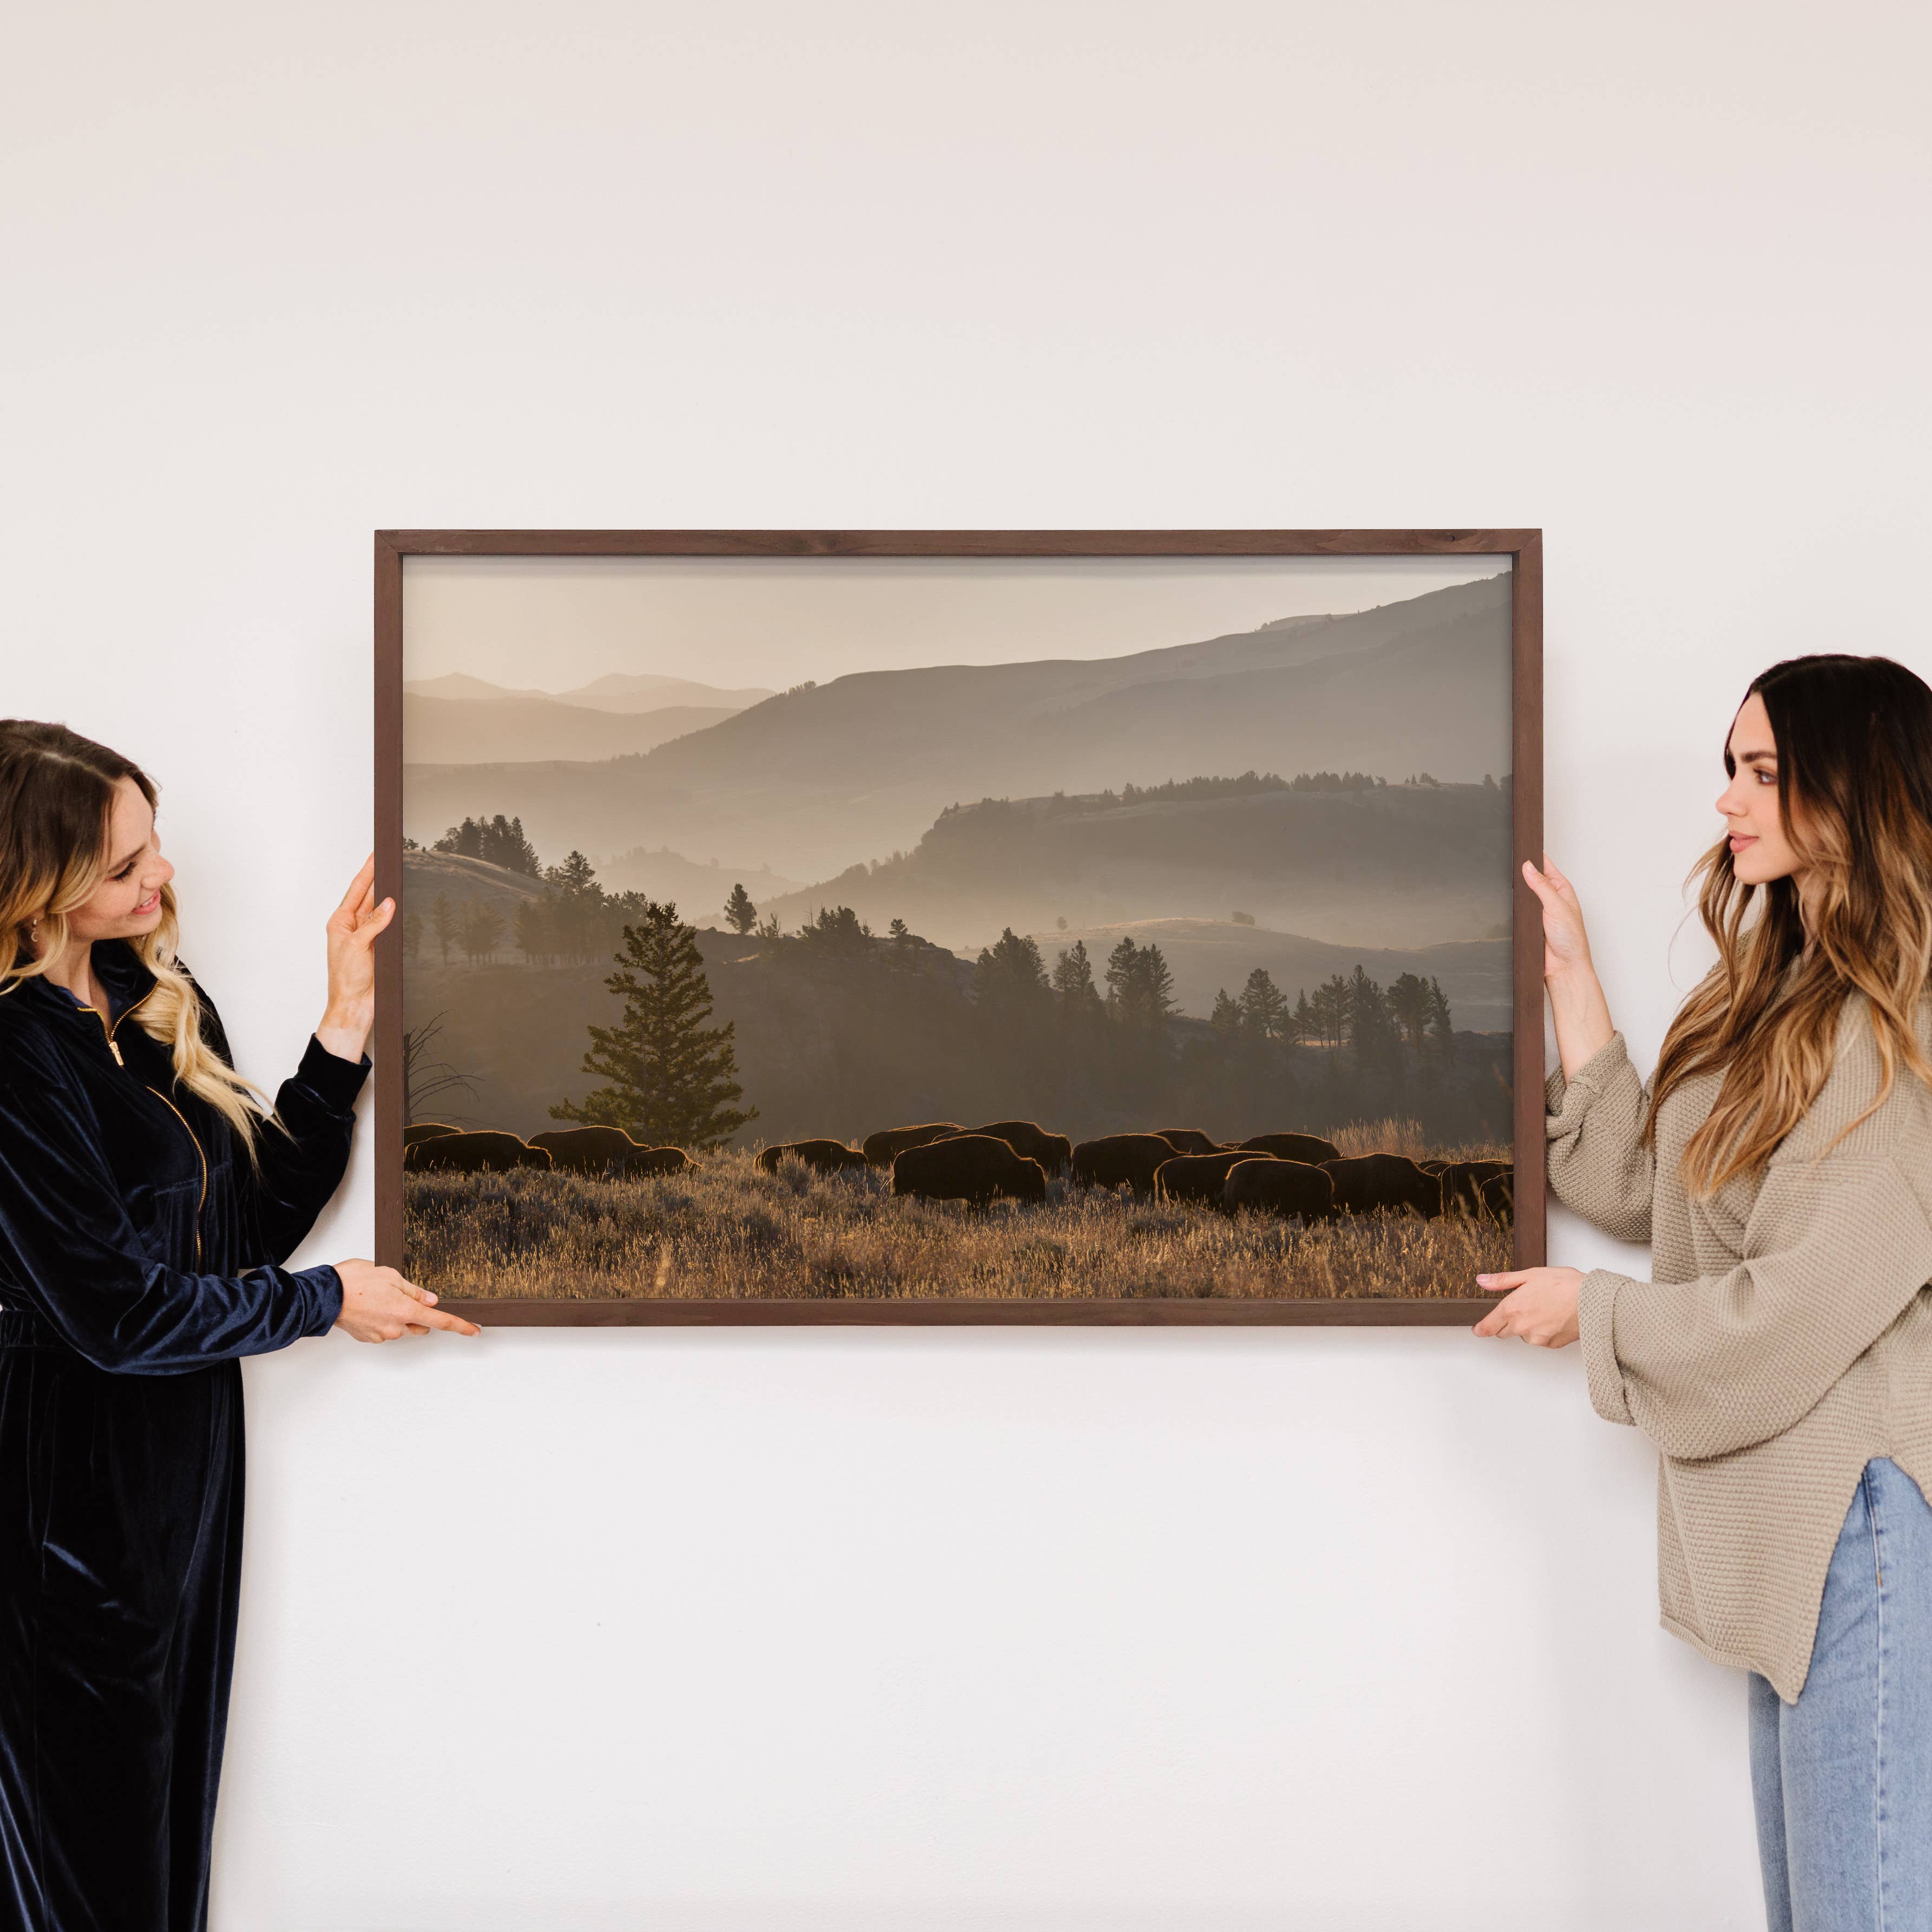
[[[110,1018],[0,997],[0,1928],[201,1932],[242,1580],[240,1356],[323,1335],[280,1264],[348,1165],[369,1063],[311,1039],[288,1132],[234,1130],[93,952]],[[222,1057],[203,999],[203,1037]]]

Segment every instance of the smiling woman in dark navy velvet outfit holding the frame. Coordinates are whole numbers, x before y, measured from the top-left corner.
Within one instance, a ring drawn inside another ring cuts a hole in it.
[[[288,1269],[369,1070],[365,866],[272,1109],[176,958],[155,784],[0,721],[0,1924],[201,1932],[242,1565],[240,1358],[477,1333]]]

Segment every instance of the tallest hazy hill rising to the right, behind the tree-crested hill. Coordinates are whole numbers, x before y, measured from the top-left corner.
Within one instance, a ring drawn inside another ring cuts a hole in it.
[[[1130,657],[864,672],[609,763],[458,765],[412,744],[406,825],[431,838],[504,811],[545,854],[670,844],[823,879],[976,798],[1248,767],[1501,775],[1509,676],[1509,580],[1488,578]]]

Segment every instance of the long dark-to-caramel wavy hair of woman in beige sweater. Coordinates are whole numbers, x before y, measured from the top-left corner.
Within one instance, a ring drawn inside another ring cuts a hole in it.
[[[1772,665],[1750,692],[1772,721],[1785,838],[1810,871],[1810,925],[1791,879],[1737,877],[1727,838],[1690,873],[1718,964],[1663,1039],[1644,1130],[1654,1138],[1675,1088],[1721,1068],[1685,1148],[1685,1180],[1700,1194],[1758,1173],[1804,1119],[1855,993],[1880,1063],[1859,1121],[1884,1105],[1901,1066],[1932,1084],[1918,1045],[1932,978],[1932,690],[1889,657],[1824,655]],[[1735,777],[1729,744],[1723,769]]]

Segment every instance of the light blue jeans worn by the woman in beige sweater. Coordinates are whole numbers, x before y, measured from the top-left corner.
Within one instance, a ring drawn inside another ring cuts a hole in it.
[[[1932,1932],[1932,1507],[1864,1464],[1810,1675],[1750,1673],[1750,1793],[1772,1932]]]

